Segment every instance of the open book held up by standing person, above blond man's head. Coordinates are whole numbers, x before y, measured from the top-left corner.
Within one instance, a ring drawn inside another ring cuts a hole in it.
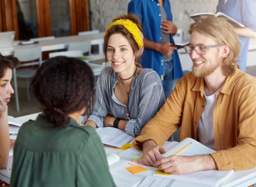
[[[189,15],[189,17],[194,19],[194,21],[197,21],[200,18],[205,18],[205,17],[209,17],[209,16],[221,17],[221,18],[225,19],[226,21],[228,21],[232,26],[237,27],[237,28],[245,28],[246,27],[243,24],[239,23],[238,21],[232,19],[232,17],[225,15],[223,12],[217,12],[216,14],[211,13],[211,12],[202,12],[202,13],[198,13],[198,14],[194,14],[194,15]]]

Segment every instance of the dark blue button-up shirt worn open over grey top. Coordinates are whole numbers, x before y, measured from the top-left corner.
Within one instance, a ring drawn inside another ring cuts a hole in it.
[[[165,0],[163,3],[164,10],[167,12],[167,18],[172,21],[171,6],[169,1]],[[161,41],[161,11],[160,3],[157,0],[132,0],[128,4],[128,13],[136,14],[140,21],[142,21],[143,34],[146,39],[153,42],[162,43]],[[170,35],[170,41],[174,44],[173,37]],[[142,66],[150,68],[157,72],[158,75],[163,75],[163,55],[151,49],[144,49],[142,54]],[[174,78],[181,78],[183,75],[180,65],[178,52],[173,51],[173,76]]]

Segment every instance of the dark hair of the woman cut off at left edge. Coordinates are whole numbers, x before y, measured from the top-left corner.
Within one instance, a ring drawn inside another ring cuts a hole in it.
[[[6,69],[15,69],[19,65],[17,57],[3,56],[0,53],[0,78],[3,78],[6,73]]]

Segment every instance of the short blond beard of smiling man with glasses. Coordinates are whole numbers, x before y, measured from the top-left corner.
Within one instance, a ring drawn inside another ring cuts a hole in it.
[[[192,60],[193,62],[196,60]],[[211,64],[211,60],[206,60],[203,59],[203,67],[195,67],[193,65],[193,69],[192,72],[196,77],[206,77],[208,75],[211,75],[221,64],[221,62],[223,61],[223,59],[221,57],[219,57],[218,53],[215,53],[215,63]]]

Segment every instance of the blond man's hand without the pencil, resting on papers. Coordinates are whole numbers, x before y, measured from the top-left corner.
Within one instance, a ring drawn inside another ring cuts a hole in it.
[[[162,159],[162,154],[167,152],[167,149],[157,146],[155,141],[148,140],[143,143],[143,159],[146,166],[154,166],[154,163]]]

